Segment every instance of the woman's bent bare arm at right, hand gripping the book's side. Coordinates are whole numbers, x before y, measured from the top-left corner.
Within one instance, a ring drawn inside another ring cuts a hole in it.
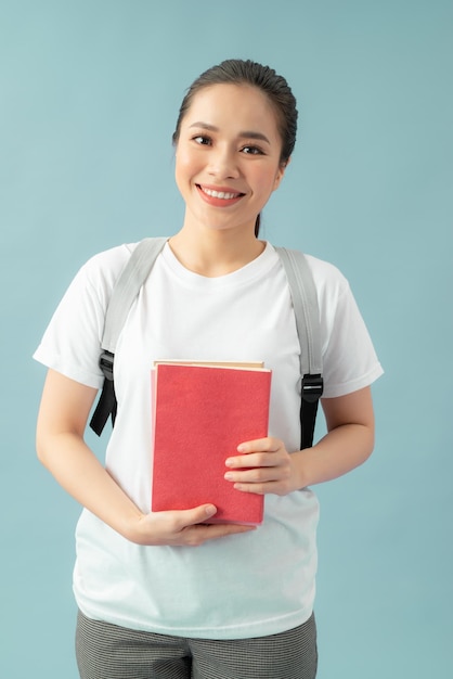
[[[287,495],[362,464],[374,447],[371,388],[325,398],[322,406],[328,433],[316,445],[289,454],[277,438],[246,441],[237,448],[245,457],[226,460],[225,478],[246,492]],[[241,471],[244,466],[251,469]]]

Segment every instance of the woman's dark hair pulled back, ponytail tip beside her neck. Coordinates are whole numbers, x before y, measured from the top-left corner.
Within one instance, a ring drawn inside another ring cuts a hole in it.
[[[296,99],[283,76],[279,76],[273,68],[250,60],[225,60],[219,65],[212,66],[202,73],[202,75],[192,82],[179,110],[177,126],[172,136],[173,144],[178,143],[182,119],[191,107],[195,94],[206,87],[225,84],[250,85],[261,90],[261,92],[268,97],[275,111],[277,129],[282,139],[280,162],[282,165],[286,165],[296,143]],[[257,236],[259,226],[260,215],[258,215],[255,223],[255,235]]]

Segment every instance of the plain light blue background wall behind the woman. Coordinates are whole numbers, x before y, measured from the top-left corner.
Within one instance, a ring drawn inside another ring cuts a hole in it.
[[[448,0],[3,0],[1,677],[77,677],[79,509],[35,458],[30,356],[90,255],[180,227],[177,110],[231,56],[299,102],[263,235],[346,273],[386,369],[373,458],[319,488],[319,679],[452,676],[452,28]]]

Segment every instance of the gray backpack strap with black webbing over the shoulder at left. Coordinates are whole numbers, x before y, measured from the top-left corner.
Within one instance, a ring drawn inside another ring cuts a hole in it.
[[[141,241],[129,257],[112,291],[105,313],[101,344],[103,350],[99,361],[104,373],[104,385],[90,421],[90,427],[98,436],[101,436],[108,417],[112,417],[113,423],[115,423],[116,418],[117,402],[113,382],[116,343],[132,303],[150,276],[150,271],[166,241],[166,238],[144,239]]]

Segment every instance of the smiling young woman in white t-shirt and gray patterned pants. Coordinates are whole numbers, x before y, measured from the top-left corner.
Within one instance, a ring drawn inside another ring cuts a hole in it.
[[[315,677],[318,501],[311,487],[371,454],[370,385],[381,368],[347,281],[309,257],[328,433],[299,450],[295,318],[280,259],[258,239],[296,124],[284,78],[254,62],[223,62],[187,91],[173,134],[184,221],[120,336],[118,415],[105,467],[83,432],[103,382],[98,363],[106,304],[133,245],[81,268],[36,351],[49,368],[39,459],[85,508],[74,574],[83,679]],[[266,496],[258,528],[204,524],[216,513],[209,503],[150,512],[150,368],[155,359],[178,357],[264,360],[272,369],[269,437],[238,441],[238,454],[225,460],[225,478],[237,491]]]

